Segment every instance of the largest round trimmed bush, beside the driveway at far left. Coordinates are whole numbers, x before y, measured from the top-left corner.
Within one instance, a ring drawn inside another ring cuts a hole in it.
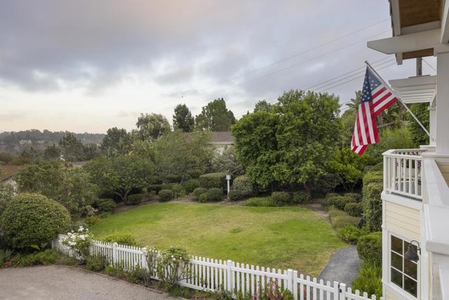
[[[55,200],[37,193],[22,193],[6,205],[1,229],[13,249],[31,245],[43,247],[70,223],[67,209]]]

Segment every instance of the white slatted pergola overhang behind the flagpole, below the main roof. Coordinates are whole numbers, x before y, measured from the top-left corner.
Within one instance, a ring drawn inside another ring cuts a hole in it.
[[[406,104],[431,103],[436,97],[436,76],[419,76],[389,81],[391,88]]]

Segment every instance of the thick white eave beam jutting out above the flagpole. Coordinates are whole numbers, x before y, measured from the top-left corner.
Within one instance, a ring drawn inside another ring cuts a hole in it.
[[[440,43],[440,39],[441,29],[432,29],[425,32],[368,41],[367,46],[385,54],[394,54],[434,48]]]

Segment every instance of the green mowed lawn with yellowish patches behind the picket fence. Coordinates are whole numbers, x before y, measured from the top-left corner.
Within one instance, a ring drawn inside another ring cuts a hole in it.
[[[95,236],[131,233],[140,245],[180,245],[197,256],[309,275],[318,275],[329,257],[347,245],[326,219],[300,207],[158,203],[113,214],[91,231]]]

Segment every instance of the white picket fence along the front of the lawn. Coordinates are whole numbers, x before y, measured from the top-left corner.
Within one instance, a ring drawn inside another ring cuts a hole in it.
[[[60,235],[52,242],[52,247],[71,257],[76,254],[62,244],[65,236]],[[121,264],[127,271],[132,271],[135,266],[146,268],[147,249],[116,243],[102,243],[93,241],[90,247],[92,255],[105,257],[109,264]],[[80,257],[76,257],[80,258]],[[310,278],[291,269],[276,270],[248,264],[239,264],[230,260],[208,259],[204,257],[192,257],[187,266],[187,278],[180,282],[183,287],[205,291],[225,290],[234,294],[257,294],[260,285],[266,282],[277,282],[281,289],[292,292],[295,300],[375,300],[376,296],[368,296],[367,293],[352,291],[344,283],[337,281],[323,282],[316,278]],[[157,277],[154,279],[158,279]],[[380,298],[383,300],[383,297]]]

